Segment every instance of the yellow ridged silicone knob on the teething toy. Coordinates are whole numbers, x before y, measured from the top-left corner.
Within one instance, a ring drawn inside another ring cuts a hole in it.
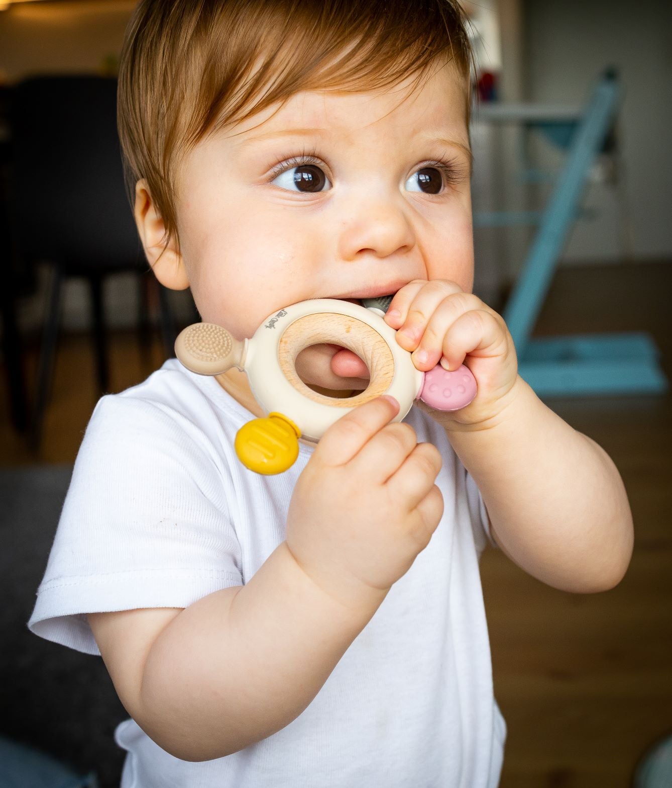
[[[281,474],[299,455],[301,430],[282,413],[247,422],[236,433],[234,448],[241,463],[257,474]]]

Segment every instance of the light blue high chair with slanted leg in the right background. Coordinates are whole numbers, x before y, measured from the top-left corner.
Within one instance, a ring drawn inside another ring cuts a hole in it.
[[[484,105],[482,121],[522,123],[567,151],[548,203],[541,212],[475,214],[474,225],[495,227],[538,222],[530,251],[502,316],[513,337],[519,373],[539,396],[662,393],[668,388],[659,351],[644,332],[584,334],[532,339],[567,236],[580,214],[586,180],[609,139],[621,89],[613,69],[604,73],[583,110],[530,105]],[[540,180],[528,171],[528,179]]]

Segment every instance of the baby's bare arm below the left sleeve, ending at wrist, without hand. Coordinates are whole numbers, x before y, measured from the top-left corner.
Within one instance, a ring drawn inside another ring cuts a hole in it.
[[[89,615],[120,700],[183,760],[218,758],[275,733],[316,696],[385,593],[348,608],[283,542],[245,586],[179,611]]]

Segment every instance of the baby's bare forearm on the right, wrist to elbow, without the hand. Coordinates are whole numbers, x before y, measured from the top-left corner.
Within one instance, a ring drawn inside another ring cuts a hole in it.
[[[630,505],[616,466],[522,378],[510,393],[508,407],[486,429],[448,429],[481,490],[497,544],[555,588],[613,588],[633,548]]]

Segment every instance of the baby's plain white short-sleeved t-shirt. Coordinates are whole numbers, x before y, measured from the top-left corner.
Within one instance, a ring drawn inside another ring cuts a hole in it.
[[[277,476],[246,470],[233,447],[251,418],[214,378],[175,359],[103,397],[30,629],[98,654],[89,612],[185,608],[245,584],[284,539],[312,454],[300,444],[297,462]],[[278,733],[202,763],[169,755],[128,719],[116,729],[127,750],[122,788],[497,786],[506,727],[478,573],[486,510],[444,431],[416,407],[405,421],[441,451],[444,515],[316,698]]]

